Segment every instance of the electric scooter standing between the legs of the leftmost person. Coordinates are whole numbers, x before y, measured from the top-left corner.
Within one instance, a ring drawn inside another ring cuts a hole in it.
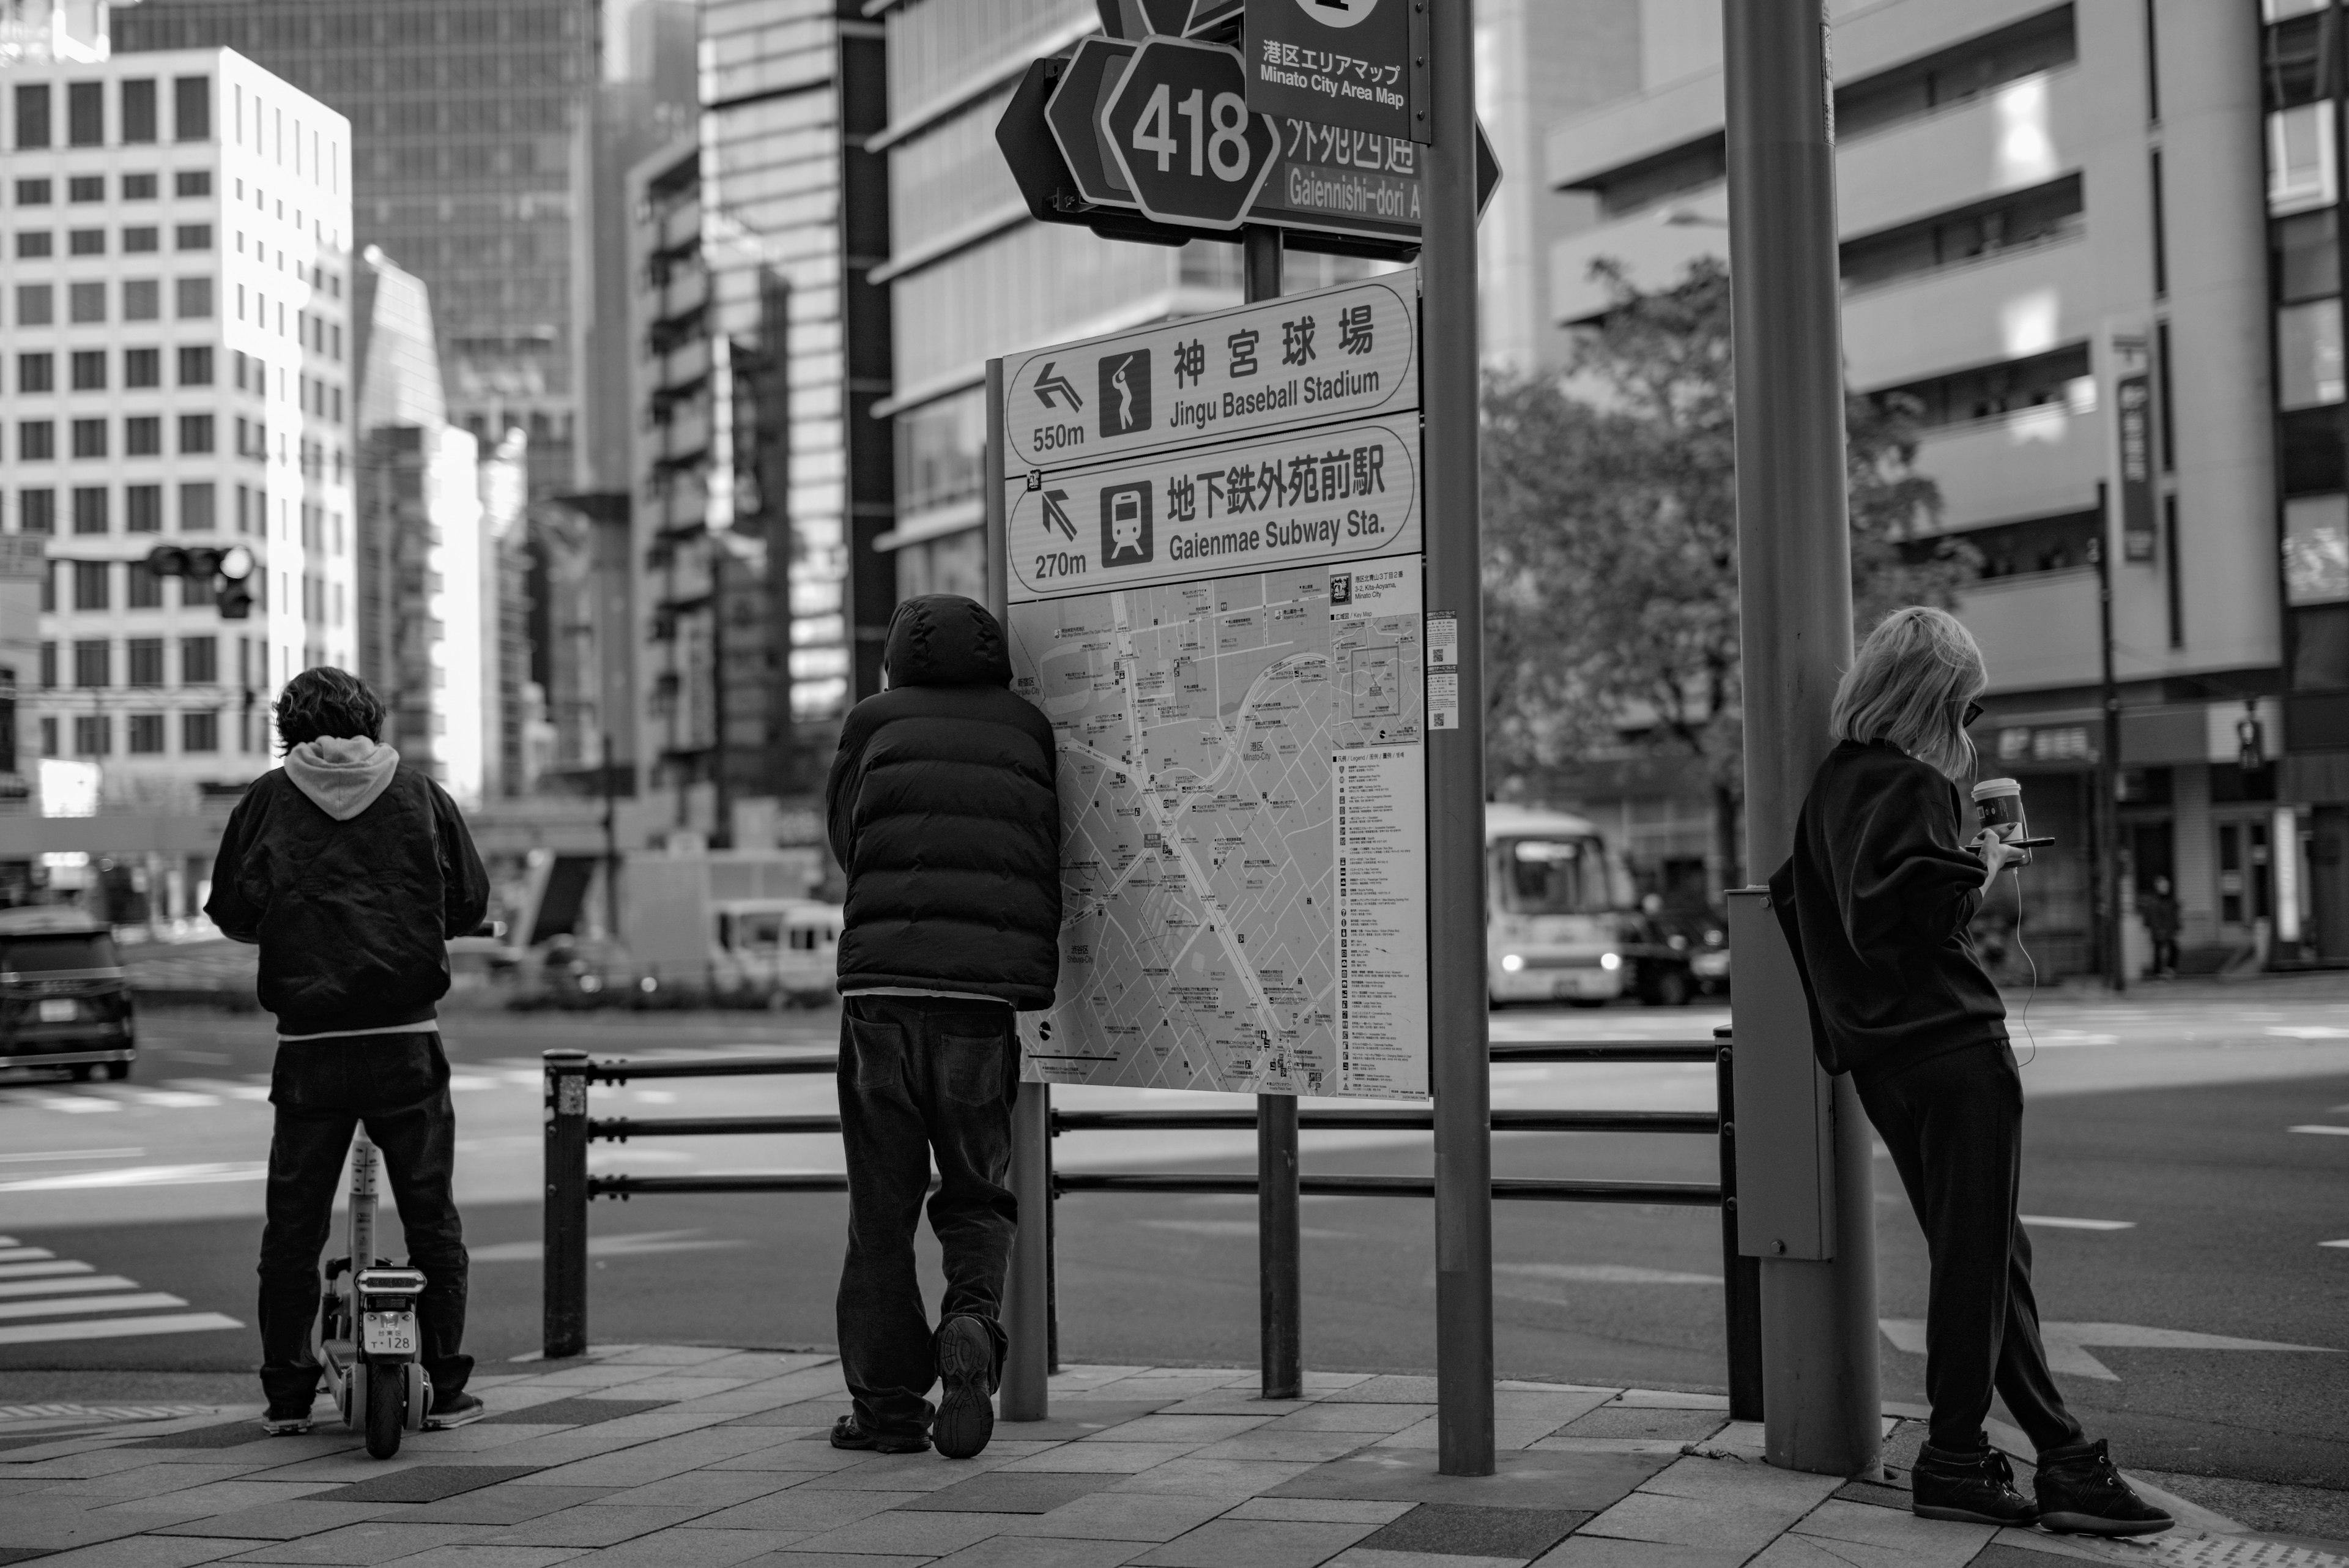
[[[432,1413],[423,1335],[416,1328],[420,1269],[376,1258],[376,1145],[362,1126],[350,1145],[350,1255],[327,1265],[327,1295],[310,1352],[327,1368],[327,1394],[343,1425],[366,1434],[366,1453],[399,1453],[402,1432],[423,1432]]]

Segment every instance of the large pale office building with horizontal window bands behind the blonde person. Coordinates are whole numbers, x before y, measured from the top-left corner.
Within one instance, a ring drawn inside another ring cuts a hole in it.
[[[2126,889],[2168,877],[2189,964],[2349,957],[2342,197],[2316,9],[1830,7],[1844,357],[1856,390],[1917,400],[1929,527],[1983,557],[1959,607],[1992,672],[1973,733],[2058,839],[2025,884],[2044,971],[2088,964],[2100,929],[2093,545],[2123,936]],[[1550,252],[1560,324],[1604,310],[1593,259],[1658,287],[1727,254],[1717,12],[1644,0],[1640,21],[1640,89],[1550,129],[1546,179],[1588,223]],[[1597,773],[1590,795],[1640,816]],[[1670,790],[1647,806],[1675,816]],[[1698,856],[1701,816],[1637,846]]]

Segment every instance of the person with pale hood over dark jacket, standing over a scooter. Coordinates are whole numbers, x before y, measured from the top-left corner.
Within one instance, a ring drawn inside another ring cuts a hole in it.
[[[277,1013],[261,1387],[263,1425],[280,1434],[310,1429],[317,1255],[359,1121],[383,1150],[409,1265],[425,1274],[428,1429],[484,1413],[465,1392],[465,1227],[435,1004],[449,992],[449,938],[489,907],[489,875],[456,802],[378,745],[381,729],[383,698],[355,675],[289,679],[277,693],[284,766],[228,813],[204,900],[223,936],[261,945],[261,1006]]]

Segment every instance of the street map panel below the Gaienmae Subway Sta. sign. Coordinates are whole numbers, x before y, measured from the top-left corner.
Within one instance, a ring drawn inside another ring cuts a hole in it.
[[[1419,557],[1010,607],[1062,790],[1045,1081],[1426,1093]]]

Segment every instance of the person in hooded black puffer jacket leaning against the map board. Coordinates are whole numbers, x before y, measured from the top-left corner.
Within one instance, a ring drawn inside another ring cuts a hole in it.
[[[836,1448],[970,1458],[994,1432],[1010,1166],[1012,1013],[1059,983],[1059,792],[1052,724],[1010,691],[1003,628],[972,599],[907,599],[888,691],[855,705],[824,788],[848,872],[841,931],[841,1143],[848,1262]],[[914,1222],[947,1272],[930,1333]],[[933,1408],[926,1394],[944,1382]]]

